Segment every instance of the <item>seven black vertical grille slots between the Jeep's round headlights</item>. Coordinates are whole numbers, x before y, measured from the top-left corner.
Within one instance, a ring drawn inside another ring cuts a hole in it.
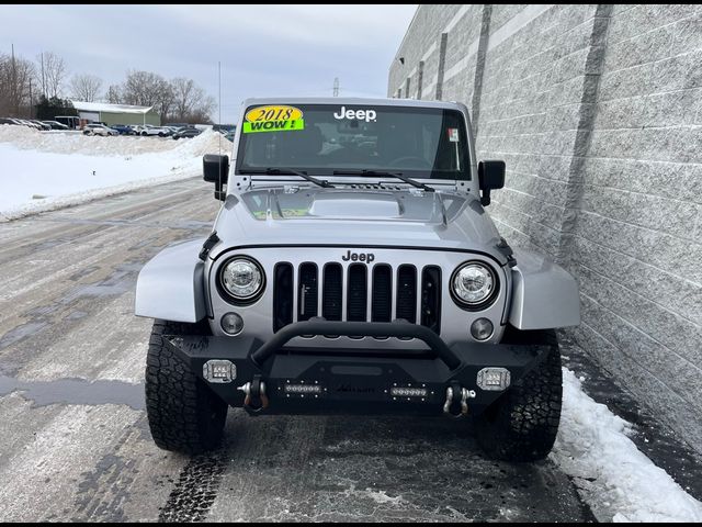
[[[392,322],[441,329],[441,268],[404,264],[278,264],[273,272],[273,329],[295,321]],[[294,282],[296,282],[294,287]],[[320,294],[321,293],[321,294]],[[293,316],[294,315],[294,316]]]

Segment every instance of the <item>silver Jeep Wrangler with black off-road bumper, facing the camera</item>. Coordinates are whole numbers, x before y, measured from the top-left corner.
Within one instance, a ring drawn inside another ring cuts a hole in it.
[[[495,458],[548,453],[577,284],[498,234],[505,164],[476,161],[463,104],[251,99],[203,162],[212,234],[137,282],[159,447],[215,448],[236,406],[465,416]]]

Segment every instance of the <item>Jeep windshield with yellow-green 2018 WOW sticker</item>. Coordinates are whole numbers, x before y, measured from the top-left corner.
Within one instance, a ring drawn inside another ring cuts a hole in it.
[[[295,104],[250,106],[245,115],[239,173],[278,168],[469,179],[465,121],[454,110]]]

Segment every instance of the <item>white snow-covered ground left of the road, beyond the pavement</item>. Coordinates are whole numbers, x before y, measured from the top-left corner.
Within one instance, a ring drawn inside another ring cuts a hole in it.
[[[100,137],[0,125],[0,221],[202,172],[203,154],[231,143],[207,130],[192,139]]]

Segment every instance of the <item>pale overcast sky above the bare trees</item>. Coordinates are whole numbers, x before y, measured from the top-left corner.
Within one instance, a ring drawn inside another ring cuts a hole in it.
[[[54,52],[69,72],[122,82],[127,69],[189,77],[222,119],[247,97],[385,97],[390,60],[416,5],[1,5],[0,53]],[[69,93],[66,93],[68,96]],[[215,117],[216,120],[216,117]]]

